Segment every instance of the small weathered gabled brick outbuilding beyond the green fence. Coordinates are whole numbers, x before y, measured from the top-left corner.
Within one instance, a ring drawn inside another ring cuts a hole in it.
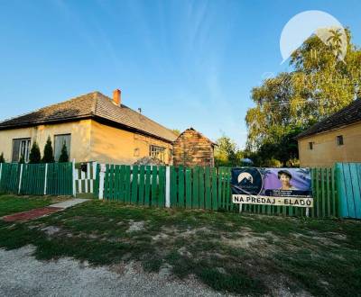
[[[214,166],[214,143],[192,128],[173,142],[174,166]]]

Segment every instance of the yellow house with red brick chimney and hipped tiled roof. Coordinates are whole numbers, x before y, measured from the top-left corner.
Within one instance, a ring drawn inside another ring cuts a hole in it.
[[[133,164],[141,157],[171,163],[177,136],[159,123],[113,99],[93,92],[0,122],[0,154],[6,162],[29,159],[32,143],[41,148],[51,137],[55,159],[65,142],[77,162]]]

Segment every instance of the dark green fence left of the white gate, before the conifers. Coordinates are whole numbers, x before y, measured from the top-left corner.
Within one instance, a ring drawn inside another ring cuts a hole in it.
[[[1,165],[0,193],[71,195],[73,194],[72,164],[4,163]]]

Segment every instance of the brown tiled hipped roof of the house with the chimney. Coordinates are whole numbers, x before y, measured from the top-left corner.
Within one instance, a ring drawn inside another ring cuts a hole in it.
[[[35,112],[1,121],[0,130],[86,118],[106,121],[168,141],[174,141],[177,138],[171,130],[124,104],[116,106],[109,97],[99,92],[84,94],[62,103],[43,107]]]

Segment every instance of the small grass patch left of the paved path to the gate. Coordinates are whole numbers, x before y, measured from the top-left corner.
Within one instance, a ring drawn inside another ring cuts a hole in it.
[[[0,217],[15,212],[30,211],[34,208],[44,207],[59,200],[63,200],[63,198],[0,195]]]

